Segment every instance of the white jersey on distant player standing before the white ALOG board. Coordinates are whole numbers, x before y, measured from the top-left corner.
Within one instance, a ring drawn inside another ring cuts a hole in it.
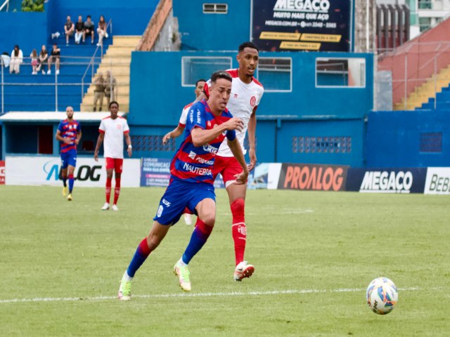
[[[106,117],[101,120],[98,132],[104,133],[103,149],[105,158],[124,157],[124,135],[129,133],[127,119]]]

